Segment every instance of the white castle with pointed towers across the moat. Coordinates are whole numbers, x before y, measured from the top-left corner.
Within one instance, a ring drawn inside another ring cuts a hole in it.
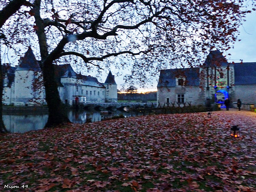
[[[46,104],[45,88],[38,61],[31,50],[20,58],[18,66],[4,65],[3,103],[10,105]],[[105,83],[74,72],[69,65],[55,65],[60,99],[65,104],[77,102],[117,102],[117,84],[109,72]]]

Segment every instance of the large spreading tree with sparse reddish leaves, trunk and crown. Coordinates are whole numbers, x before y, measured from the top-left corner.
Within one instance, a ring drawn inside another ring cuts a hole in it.
[[[113,63],[117,68],[131,70],[127,79],[138,76],[144,83],[163,67],[175,63],[195,66],[209,49],[229,49],[248,12],[242,9],[244,3],[35,0],[30,10],[18,14],[19,19],[34,18],[30,28],[36,32],[40,48],[49,107],[46,126],[68,121],[60,108],[55,62],[72,62],[69,58],[73,55],[81,58],[87,68],[104,68]],[[119,62],[113,57],[118,57]],[[104,60],[109,62],[100,62]]]

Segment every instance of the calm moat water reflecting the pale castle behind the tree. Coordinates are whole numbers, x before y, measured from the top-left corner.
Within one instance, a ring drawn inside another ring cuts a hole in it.
[[[87,123],[101,121],[100,111],[68,110],[68,117],[73,123]],[[125,110],[112,111],[113,116],[123,115],[124,117],[138,116],[141,114],[130,113]],[[22,112],[8,113],[3,115],[6,129],[10,133],[25,133],[44,128],[48,119],[48,114],[43,112]]]

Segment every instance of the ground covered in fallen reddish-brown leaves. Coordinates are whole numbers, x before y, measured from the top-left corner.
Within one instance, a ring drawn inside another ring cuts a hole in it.
[[[256,191],[256,113],[211,116],[149,115],[0,135],[0,191]],[[232,138],[237,124],[241,137]]]

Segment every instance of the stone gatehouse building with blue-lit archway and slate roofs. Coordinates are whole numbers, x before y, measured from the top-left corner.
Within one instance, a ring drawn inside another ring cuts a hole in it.
[[[201,67],[161,70],[157,89],[162,105],[205,105],[226,98],[256,105],[256,62],[228,63],[219,51],[210,51]]]

